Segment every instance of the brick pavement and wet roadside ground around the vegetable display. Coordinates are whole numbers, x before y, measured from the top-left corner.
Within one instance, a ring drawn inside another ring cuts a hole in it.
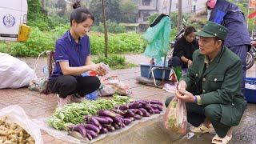
[[[35,58],[20,58],[26,62],[30,67],[34,67]],[[129,62],[139,64],[141,62],[148,62],[149,58],[139,55],[126,55]],[[40,58],[38,61],[38,69],[36,73],[38,77],[43,76],[42,66],[46,65],[46,58]],[[132,98],[142,99],[158,99],[162,102],[171,96],[164,90],[154,88],[151,86],[144,86],[138,84],[135,80],[140,75],[139,67],[127,70],[113,70],[111,74],[117,74],[122,82],[130,85],[133,91]],[[247,71],[247,77],[256,77],[256,66],[254,65]],[[37,92],[30,91],[27,88],[16,90],[4,89],[0,90],[0,109],[9,105],[19,105],[26,111],[30,118],[46,118],[53,114],[57,98],[54,94],[38,94]],[[117,134],[114,137],[107,137],[95,143],[194,143],[203,144],[210,143],[214,134],[201,134],[195,135],[188,139],[182,134],[174,134],[167,131],[162,124],[162,117],[159,117],[150,122],[145,122],[130,128],[130,130]],[[189,126],[188,126],[189,129]],[[187,131],[189,132],[189,131]],[[45,143],[66,143],[61,140],[46,134],[42,131],[42,138]],[[256,104],[248,104],[247,109],[242,117],[242,122],[239,126],[234,127],[233,138],[230,143],[238,144],[255,144],[256,142]]]

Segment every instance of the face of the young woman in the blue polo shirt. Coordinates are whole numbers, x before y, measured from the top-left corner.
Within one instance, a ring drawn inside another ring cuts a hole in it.
[[[77,23],[74,20],[72,21],[72,27],[74,28],[75,34],[79,37],[83,37],[93,25],[93,20],[91,18],[87,18],[84,22]]]

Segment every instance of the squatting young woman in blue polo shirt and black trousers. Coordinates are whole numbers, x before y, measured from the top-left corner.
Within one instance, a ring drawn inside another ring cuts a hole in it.
[[[100,64],[94,64],[90,59],[90,41],[86,33],[93,25],[94,16],[78,2],[73,7],[70,30],[56,42],[55,65],[49,78],[50,91],[59,96],[58,106],[78,100],[74,94],[84,96],[98,89],[98,77],[82,77],[82,73],[89,70],[100,75],[106,73]]]

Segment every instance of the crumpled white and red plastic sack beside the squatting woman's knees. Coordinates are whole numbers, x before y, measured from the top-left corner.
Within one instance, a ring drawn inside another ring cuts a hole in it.
[[[117,75],[103,76],[100,78],[102,85],[99,88],[100,96],[113,94],[129,95],[132,94],[130,87],[120,81]]]

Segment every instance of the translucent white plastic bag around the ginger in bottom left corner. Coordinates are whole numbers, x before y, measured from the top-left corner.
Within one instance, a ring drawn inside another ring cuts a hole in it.
[[[26,130],[36,144],[43,143],[40,129],[27,117],[21,106],[11,105],[3,108],[0,110],[0,118],[5,116],[7,116],[6,121],[14,122]]]

